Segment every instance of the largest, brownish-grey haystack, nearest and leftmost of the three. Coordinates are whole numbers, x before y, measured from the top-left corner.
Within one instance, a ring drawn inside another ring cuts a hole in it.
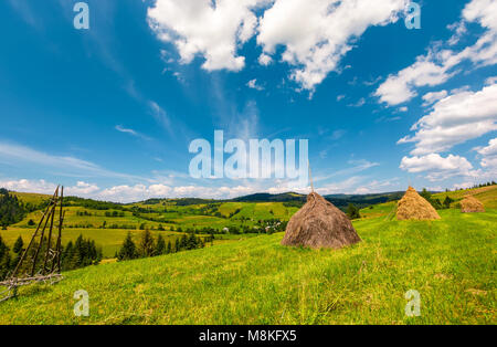
[[[282,244],[340,249],[361,241],[348,217],[316,192],[292,217]]]

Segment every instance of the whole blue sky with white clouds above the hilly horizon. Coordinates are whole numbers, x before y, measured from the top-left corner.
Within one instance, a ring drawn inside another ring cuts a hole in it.
[[[113,201],[297,189],[193,179],[195,138],[308,139],[321,193],[497,177],[497,1],[0,2],[0,186]]]

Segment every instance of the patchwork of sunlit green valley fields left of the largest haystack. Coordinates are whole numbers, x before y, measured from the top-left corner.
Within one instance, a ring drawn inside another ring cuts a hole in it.
[[[24,202],[35,204],[40,204],[49,199],[49,196],[44,194],[15,192],[15,196]],[[70,241],[74,242],[80,235],[83,235],[86,239],[94,240],[97,246],[102,248],[104,257],[108,259],[114,257],[128,232],[131,233],[134,241],[138,242],[142,229],[150,229],[156,238],[161,234],[166,243],[171,242],[173,244],[176,239],[181,238],[187,230],[212,228],[220,231],[224,228],[232,229],[233,227],[261,227],[260,221],[273,219],[286,221],[298,210],[296,207],[287,208],[282,202],[224,202],[216,203],[215,208],[220,215],[202,215],[199,214],[199,211],[205,208],[203,203],[193,206],[168,204],[166,207],[162,203],[138,204],[147,207],[148,212],[136,215],[130,211],[118,209],[96,210],[81,206],[64,208],[66,214],[62,244],[65,245]],[[41,219],[42,214],[42,210],[33,211],[22,221],[8,227],[7,230],[0,231],[2,240],[9,246],[12,246],[15,240],[21,236],[27,244],[35,230],[34,224],[29,225],[30,220],[35,223]],[[152,219],[162,219],[166,222],[158,222]],[[178,230],[182,231],[179,232]],[[198,235],[209,236],[209,234],[202,233]],[[214,244],[233,242],[253,235],[253,233],[244,235],[216,234]]]

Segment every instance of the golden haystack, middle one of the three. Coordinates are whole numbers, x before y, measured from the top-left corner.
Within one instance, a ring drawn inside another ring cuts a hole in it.
[[[396,207],[396,219],[403,220],[434,220],[440,219],[433,206],[421,197],[417,191],[409,187]]]

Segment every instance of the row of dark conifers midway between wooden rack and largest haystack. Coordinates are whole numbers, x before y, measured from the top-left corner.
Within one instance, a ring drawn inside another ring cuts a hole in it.
[[[128,232],[123,246],[119,252],[116,253],[116,257],[119,261],[126,261],[138,257],[149,257],[163,255],[169,253],[177,253],[181,251],[195,250],[205,246],[205,242],[213,242],[213,236],[198,238],[194,233],[189,235],[183,234],[181,238],[176,239],[175,243],[170,241],[166,244],[166,240],[161,234],[154,238],[149,230],[145,230],[141,233],[138,245],[133,241],[131,233]]]

